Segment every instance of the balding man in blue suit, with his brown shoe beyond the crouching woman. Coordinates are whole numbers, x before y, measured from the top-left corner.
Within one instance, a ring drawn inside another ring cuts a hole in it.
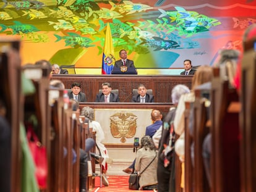
[[[162,118],[163,118],[163,115],[161,114],[161,112],[156,109],[153,109],[151,111],[151,120],[153,120],[153,124],[148,125],[148,127],[146,127],[145,135],[150,136],[150,138],[152,138],[152,136],[156,133],[156,131],[163,125]],[[134,159],[134,161],[129,167],[127,167],[122,171],[129,174],[133,173],[135,161],[136,159]]]

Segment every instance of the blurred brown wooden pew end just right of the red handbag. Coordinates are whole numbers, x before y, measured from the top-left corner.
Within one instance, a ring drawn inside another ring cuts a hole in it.
[[[49,116],[51,109],[48,104],[48,77],[51,71],[44,66],[38,65],[24,65],[22,70],[25,77],[32,80],[35,86],[35,93],[25,96],[24,122],[26,125],[31,115],[35,115],[38,125],[33,128],[39,141],[46,148],[49,173],[51,169],[51,128]],[[47,177],[47,183],[49,183],[49,177]],[[41,191],[49,191],[49,188],[41,189]]]

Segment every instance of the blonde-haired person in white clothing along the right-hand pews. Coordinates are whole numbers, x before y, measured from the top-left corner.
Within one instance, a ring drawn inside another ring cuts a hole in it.
[[[213,78],[213,69],[209,65],[202,65],[198,67],[197,72],[192,78],[192,91],[187,94],[182,94],[179,99],[179,104],[177,105],[176,114],[174,118],[174,131],[179,136],[179,139],[175,143],[175,152],[179,156],[180,161],[184,164],[184,112],[185,112],[185,102],[194,102],[195,94],[194,89],[198,85],[202,85],[203,83],[207,83],[211,81]],[[192,122],[190,122],[192,124]],[[184,166],[182,166],[184,167]],[[184,188],[184,169],[182,169],[182,179],[181,179],[181,188]]]

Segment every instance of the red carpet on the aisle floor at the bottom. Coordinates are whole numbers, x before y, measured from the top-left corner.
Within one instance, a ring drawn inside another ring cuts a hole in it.
[[[106,192],[106,191],[118,191],[118,192],[125,192],[125,191],[138,191],[138,190],[129,190],[128,188],[128,180],[129,176],[114,176],[111,175],[108,177],[109,186],[102,186],[100,187],[100,177],[95,178],[95,188],[92,192]],[[150,192],[150,191],[148,191]]]

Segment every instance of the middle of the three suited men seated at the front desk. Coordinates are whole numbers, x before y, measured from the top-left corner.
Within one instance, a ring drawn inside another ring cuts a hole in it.
[[[119,102],[119,95],[111,93],[110,83],[102,83],[102,93],[97,94],[95,102]]]

